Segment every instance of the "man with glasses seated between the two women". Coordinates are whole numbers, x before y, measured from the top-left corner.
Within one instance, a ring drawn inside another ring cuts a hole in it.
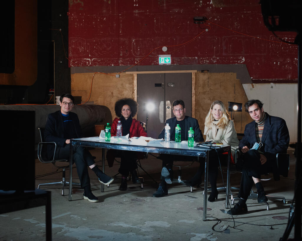
[[[185,103],[182,100],[175,100],[172,103],[172,110],[175,117],[172,117],[165,121],[165,125],[168,123],[171,127],[170,130],[170,139],[175,140],[175,127],[177,124],[181,127],[181,141],[188,140],[188,130],[190,127],[194,130],[194,141],[202,142],[204,138],[199,129],[198,121],[195,118],[186,116]],[[165,127],[162,129],[162,132],[159,134],[158,138],[164,138],[165,136]],[[160,159],[162,160],[162,182],[159,184],[159,188],[153,197],[163,197],[168,194],[167,183],[171,184],[173,179],[172,165],[173,161],[183,161],[183,160],[193,160],[194,157],[182,156],[182,155],[169,155],[169,154],[160,154]],[[199,179],[201,174],[196,174],[195,179]],[[193,177],[193,178],[194,178]]]

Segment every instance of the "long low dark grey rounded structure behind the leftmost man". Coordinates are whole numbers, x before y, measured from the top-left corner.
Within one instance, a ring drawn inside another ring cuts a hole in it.
[[[35,111],[35,133],[33,133],[35,135],[35,143],[40,142],[38,127],[45,127],[47,115],[59,109],[59,105],[0,105],[0,110]],[[111,119],[111,114],[108,116],[110,110],[104,105],[75,105],[72,112],[78,115],[84,136],[93,136],[94,125],[104,124],[104,121],[108,118]],[[10,117],[1,116],[0,118]]]

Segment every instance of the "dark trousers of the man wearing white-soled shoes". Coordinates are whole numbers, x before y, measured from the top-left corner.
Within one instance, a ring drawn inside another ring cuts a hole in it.
[[[81,187],[90,187],[90,178],[88,174],[88,166],[95,164],[90,152],[83,146],[72,146],[72,160],[76,163],[76,170],[80,179]],[[64,147],[57,146],[56,159],[69,159],[70,144]]]

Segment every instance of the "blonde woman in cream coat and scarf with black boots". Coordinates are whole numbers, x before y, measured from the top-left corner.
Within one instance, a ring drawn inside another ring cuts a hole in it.
[[[209,113],[204,122],[204,135],[206,142],[223,143],[231,146],[232,155],[238,148],[239,140],[234,127],[234,122],[230,118],[225,105],[220,100],[212,103]],[[220,155],[220,160],[225,159],[227,155]],[[210,155],[209,159],[209,179],[211,184],[211,194],[208,198],[209,202],[214,202],[217,199],[217,176],[218,176],[218,157],[217,153]]]

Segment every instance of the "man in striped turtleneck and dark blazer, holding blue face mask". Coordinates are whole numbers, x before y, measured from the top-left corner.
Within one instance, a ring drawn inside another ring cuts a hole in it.
[[[239,202],[228,211],[228,214],[233,215],[247,212],[246,200],[254,183],[258,202],[268,200],[260,175],[272,172],[275,180],[280,179],[276,154],[286,153],[289,144],[288,128],[282,118],[264,112],[263,103],[259,100],[249,100],[244,106],[254,121],[246,125],[244,136],[239,142],[239,149],[243,153],[242,176]]]

